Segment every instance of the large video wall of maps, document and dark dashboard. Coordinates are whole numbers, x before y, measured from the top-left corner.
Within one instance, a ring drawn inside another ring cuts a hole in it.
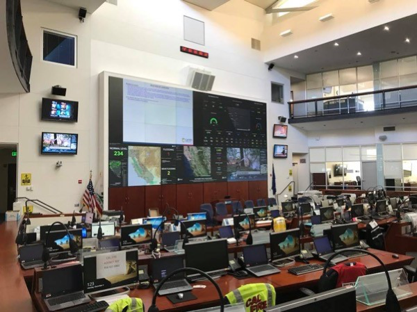
[[[108,79],[110,187],[267,179],[265,103]]]

